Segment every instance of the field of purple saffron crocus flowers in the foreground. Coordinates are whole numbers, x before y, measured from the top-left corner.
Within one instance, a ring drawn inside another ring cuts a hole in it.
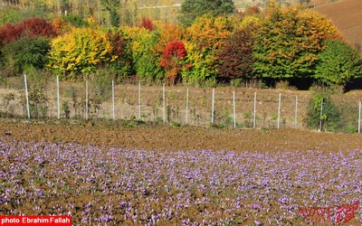
[[[71,215],[73,225],[362,223],[362,149],[288,151],[260,140],[250,150],[242,141],[234,151],[161,150],[13,133],[0,138],[1,215]]]

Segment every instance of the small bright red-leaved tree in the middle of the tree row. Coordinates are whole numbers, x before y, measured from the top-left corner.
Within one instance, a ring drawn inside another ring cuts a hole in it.
[[[174,40],[167,44],[161,56],[161,66],[166,71],[167,82],[175,85],[181,72],[181,59],[186,56],[184,42]]]

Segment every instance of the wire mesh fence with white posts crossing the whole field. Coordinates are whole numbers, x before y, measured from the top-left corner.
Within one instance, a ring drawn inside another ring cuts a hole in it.
[[[165,87],[141,81],[115,84],[111,79],[69,82],[24,76],[1,85],[0,115],[359,133],[358,98],[316,99],[311,92],[297,90]]]

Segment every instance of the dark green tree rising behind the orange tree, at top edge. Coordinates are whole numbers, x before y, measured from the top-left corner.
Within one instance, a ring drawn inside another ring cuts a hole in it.
[[[233,14],[235,5],[232,0],[186,0],[181,5],[178,19],[181,24],[193,24],[197,16]]]

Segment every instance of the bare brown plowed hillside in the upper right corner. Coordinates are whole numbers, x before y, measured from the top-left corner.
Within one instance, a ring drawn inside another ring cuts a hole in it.
[[[362,47],[362,0],[340,0],[315,10],[336,24],[348,42]]]

